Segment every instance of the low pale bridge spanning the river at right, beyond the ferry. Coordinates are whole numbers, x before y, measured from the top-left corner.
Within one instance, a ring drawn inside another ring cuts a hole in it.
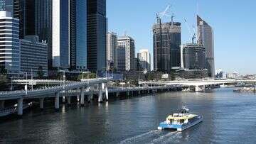
[[[238,84],[243,83],[256,83],[256,79],[196,79],[196,80],[182,80],[182,81],[168,81],[168,82],[141,82],[145,85],[181,85],[186,87],[194,87],[196,92],[203,91],[207,86],[212,85],[225,85],[225,84]]]

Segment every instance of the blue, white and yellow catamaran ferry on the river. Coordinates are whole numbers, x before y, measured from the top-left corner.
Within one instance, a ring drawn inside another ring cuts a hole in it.
[[[164,128],[171,128],[176,129],[177,131],[183,131],[203,121],[203,116],[198,116],[188,112],[189,109],[187,109],[186,106],[182,106],[178,113],[173,113],[168,116],[166,121],[161,122],[157,129],[164,130]]]

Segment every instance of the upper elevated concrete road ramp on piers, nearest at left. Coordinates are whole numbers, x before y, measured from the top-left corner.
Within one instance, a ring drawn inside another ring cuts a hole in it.
[[[85,87],[90,87],[95,84],[104,84],[108,82],[109,78],[100,78],[100,79],[88,79],[83,82],[70,82],[68,84],[63,84],[55,87],[46,87],[42,89],[33,89],[33,90],[21,90],[21,91],[11,91],[11,92],[0,92],[0,108],[4,108],[4,101],[10,99],[17,99],[18,101],[18,115],[23,114],[23,99],[40,99],[40,105],[43,107],[43,99],[48,96],[55,97],[55,109],[59,109],[59,98],[60,92],[68,92],[69,90],[78,89],[80,91],[80,102],[84,104],[85,97]],[[99,89],[102,91],[102,89]]]

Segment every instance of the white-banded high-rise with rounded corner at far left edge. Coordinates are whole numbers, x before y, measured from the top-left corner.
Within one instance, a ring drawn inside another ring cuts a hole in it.
[[[0,11],[0,67],[10,75],[20,72],[19,21],[11,12]]]

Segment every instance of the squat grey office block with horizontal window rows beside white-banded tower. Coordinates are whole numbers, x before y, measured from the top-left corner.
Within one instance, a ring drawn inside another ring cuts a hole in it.
[[[48,48],[45,42],[40,43],[37,35],[26,35],[21,40],[21,72],[28,76],[48,76]]]

